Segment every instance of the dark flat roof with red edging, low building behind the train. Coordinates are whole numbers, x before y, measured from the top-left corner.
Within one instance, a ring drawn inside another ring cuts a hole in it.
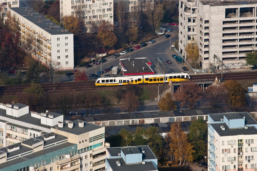
[[[146,63],[151,64],[147,58],[120,59],[119,63],[123,68],[127,69],[127,71],[122,71],[124,75],[141,75],[154,73],[153,70],[146,65]]]

